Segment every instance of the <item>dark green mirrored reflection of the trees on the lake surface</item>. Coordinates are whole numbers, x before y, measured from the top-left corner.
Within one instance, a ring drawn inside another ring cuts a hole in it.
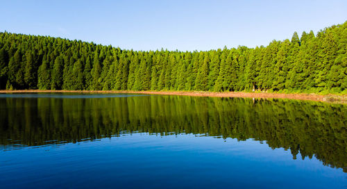
[[[254,138],[272,149],[289,149],[294,159],[300,152],[301,158],[316,156],[324,165],[347,172],[346,105],[282,99],[40,95],[0,98],[1,150],[133,132],[194,133],[237,140]]]

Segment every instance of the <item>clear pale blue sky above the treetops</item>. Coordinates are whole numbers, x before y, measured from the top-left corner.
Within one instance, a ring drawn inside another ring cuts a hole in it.
[[[347,20],[346,0],[1,1],[0,31],[121,49],[180,51],[267,45]]]

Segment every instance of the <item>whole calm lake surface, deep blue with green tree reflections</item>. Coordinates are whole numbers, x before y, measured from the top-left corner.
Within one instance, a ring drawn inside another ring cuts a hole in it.
[[[0,188],[346,188],[347,106],[0,94]]]

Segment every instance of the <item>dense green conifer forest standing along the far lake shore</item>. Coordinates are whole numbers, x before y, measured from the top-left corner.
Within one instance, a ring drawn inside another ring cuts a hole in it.
[[[347,22],[266,47],[133,51],[0,33],[0,89],[347,94]]]

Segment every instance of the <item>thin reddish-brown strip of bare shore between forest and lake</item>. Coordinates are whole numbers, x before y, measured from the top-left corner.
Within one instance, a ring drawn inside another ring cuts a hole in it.
[[[312,101],[328,101],[347,103],[347,95],[336,94],[282,94],[268,92],[195,92],[195,91],[132,91],[132,90],[0,90],[0,93],[24,93],[24,92],[85,92],[85,93],[137,93],[137,94],[161,94],[184,95],[194,97],[244,97],[244,98],[270,98],[270,99],[299,99]]]

